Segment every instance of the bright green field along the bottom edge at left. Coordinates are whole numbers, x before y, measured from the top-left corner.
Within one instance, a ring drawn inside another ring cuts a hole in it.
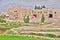
[[[0,36],[0,40],[49,40],[46,38],[34,38],[27,36]]]

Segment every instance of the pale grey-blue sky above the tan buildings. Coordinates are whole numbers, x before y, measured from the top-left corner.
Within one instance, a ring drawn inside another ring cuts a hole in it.
[[[6,11],[13,6],[34,8],[35,5],[60,9],[60,0],[0,0],[0,11]]]

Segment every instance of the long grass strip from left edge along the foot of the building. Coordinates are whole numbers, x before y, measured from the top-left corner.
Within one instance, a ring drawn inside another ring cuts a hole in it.
[[[30,23],[18,23],[18,22],[10,22],[10,23],[1,23],[0,28],[17,28],[21,26],[44,26],[44,25],[49,25],[50,23],[38,23],[38,22],[30,22]]]

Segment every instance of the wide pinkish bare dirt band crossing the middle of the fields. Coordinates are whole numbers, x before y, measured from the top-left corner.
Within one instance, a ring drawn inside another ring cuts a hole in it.
[[[49,27],[34,27],[34,26],[23,26],[23,27],[19,27],[19,28],[12,28],[13,30],[20,30],[20,31],[28,31],[28,30],[32,30],[32,31],[38,31],[38,30],[60,30],[60,28],[49,28]]]

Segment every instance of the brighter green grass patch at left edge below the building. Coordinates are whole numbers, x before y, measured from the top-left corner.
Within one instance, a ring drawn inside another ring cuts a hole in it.
[[[22,26],[20,23],[11,22],[11,23],[1,23],[0,28],[16,28]]]

